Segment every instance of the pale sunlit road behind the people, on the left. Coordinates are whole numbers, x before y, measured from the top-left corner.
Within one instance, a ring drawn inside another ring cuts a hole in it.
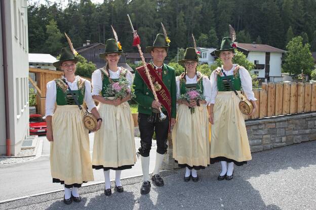
[[[93,133],[90,137],[90,153],[93,150]],[[0,165],[0,202],[7,199],[29,196],[37,193],[43,193],[58,189],[63,189],[63,185],[52,183],[50,168],[50,142],[46,136],[39,137],[43,139],[42,156],[38,159],[10,165]],[[140,138],[135,138],[135,147],[140,146]],[[150,166],[149,171],[153,171],[155,162],[156,144],[152,142],[150,150]],[[93,170],[94,182],[104,182],[102,170]],[[121,178],[141,175],[141,162],[137,160],[132,169],[122,171]],[[115,172],[110,171],[110,179],[115,178]],[[84,184],[84,185],[87,185]],[[0,208],[1,209],[1,208]]]

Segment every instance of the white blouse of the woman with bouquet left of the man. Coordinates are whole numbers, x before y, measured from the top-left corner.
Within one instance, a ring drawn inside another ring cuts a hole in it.
[[[119,70],[116,72],[113,72],[109,69],[110,78],[111,79],[119,79],[120,73],[122,71],[122,68],[119,67]],[[126,79],[129,81],[129,86],[131,87],[133,85],[133,74],[127,70],[126,73]],[[102,90],[102,76],[101,76],[101,70],[95,70],[92,73],[92,95],[100,95],[100,92]]]

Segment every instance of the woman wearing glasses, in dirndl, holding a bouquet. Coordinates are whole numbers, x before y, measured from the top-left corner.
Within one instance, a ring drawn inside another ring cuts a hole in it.
[[[185,50],[185,72],[176,78],[179,104],[176,124],[172,131],[173,158],[179,167],[185,167],[184,181],[199,180],[196,170],[210,164],[209,120],[207,104],[211,100],[211,83],[207,76],[196,71],[199,59],[193,47]],[[198,90],[205,100],[181,99],[187,91]],[[193,111],[194,110],[194,111]]]

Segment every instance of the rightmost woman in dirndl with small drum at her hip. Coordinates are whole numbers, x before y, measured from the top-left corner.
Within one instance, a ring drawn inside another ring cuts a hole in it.
[[[252,91],[252,80],[249,72],[242,66],[232,63],[235,53],[235,43],[230,37],[224,37],[221,47],[215,50],[215,55],[223,62],[212,72],[210,122],[211,126],[211,164],[221,163],[221,173],[218,180],[233,178],[233,166],[242,166],[251,160],[250,146],[245,120],[239,108],[241,88],[253,104],[252,115],[257,109],[256,98]],[[226,77],[224,76],[226,74]],[[230,88],[229,80],[232,88]]]

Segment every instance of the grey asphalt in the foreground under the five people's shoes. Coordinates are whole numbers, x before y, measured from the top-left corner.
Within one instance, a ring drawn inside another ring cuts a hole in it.
[[[316,141],[253,153],[234,178],[217,181],[219,165],[183,182],[183,169],[163,173],[165,186],[140,195],[142,177],[125,179],[125,192],[103,194],[104,184],[82,187],[81,203],[65,205],[63,192],[0,204],[0,209],[316,209]],[[112,183],[113,186],[113,183]]]

